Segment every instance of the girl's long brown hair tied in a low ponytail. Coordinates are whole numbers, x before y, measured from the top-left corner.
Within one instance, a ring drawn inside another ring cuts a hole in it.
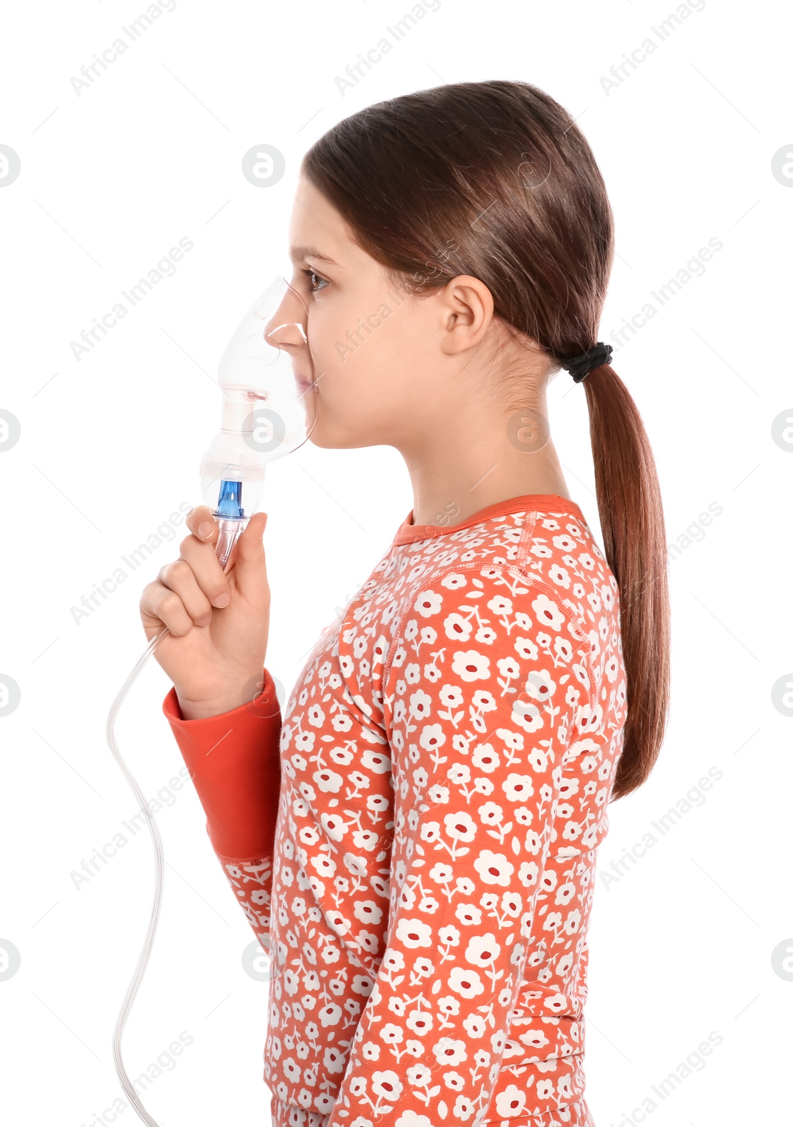
[[[526,82],[458,82],[368,106],[309,150],[303,171],[359,245],[411,293],[471,274],[496,316],[555,361],[597,339],[614,221],[568,112]],[[669,700],[663,508],[652,450],[611,365],[583,390],[604,551],[620,589],[627,718],[613,798],[647,779]]]

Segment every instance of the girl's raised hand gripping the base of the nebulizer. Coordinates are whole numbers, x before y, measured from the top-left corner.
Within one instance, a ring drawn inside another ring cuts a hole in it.
[[[181,541],[179,559],[143,588],[141,620],[150,641],[170,630],[154,657],[173,682],[184,718],[197,720],[252,700],[261,684],[270,619],[261,542],[267,514],[251,516],[225,573],[211,509],[190,509],[186,524],[191,535]]]

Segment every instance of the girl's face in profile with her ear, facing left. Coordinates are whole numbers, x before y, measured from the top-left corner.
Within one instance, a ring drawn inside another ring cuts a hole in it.
[[[428,298],[401,293],[305,177],[289,255],[292,290],[269,325],[285,326],[270,331],[288,350],[299,384],[314,384],[306,393],[317,411],[311,442],[404,450],[452,425],[455,401],[481,388],[467,365],[492,319],[487,286],[460,277]],[[294,321],[306,327],[308,343],[289,328]]]

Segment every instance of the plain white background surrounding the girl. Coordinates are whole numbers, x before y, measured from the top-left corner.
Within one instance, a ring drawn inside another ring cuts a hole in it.
[[[134,814],[105,720],[145,645],[141,588],[184,532],[79,625],[70,609],[179,503],[201,500],[198,460],[219,426],[212,376],[275,273],[302,153],[373,101],[492,78],[561,101],[604,172],[618,257],[602,339],[709,238],[723,242],[614,357],[653,444],[667,540],[690,529],[692,542],[670,565],[668,736],[648,782],[611,807],[599,871],[710,767],[723,777],[630,871],[607,887],[598,878],[587,1099],[598,1127],[622,1124],[716,1031],[723,1041],[705,1067],[656,1098],[647,1121],[785,1118],[793,982],[772,951],[793,935],[793,720],[772,686],[793,680],[793,444],[775,442],[772,425],[793,417],[793,179],[775,179],[772,158],[793,151],[791,28],[782,6],[707,0],[607,94],[609,66],[676,8],[443,0],[342,96],[336,77],[409,3],[178,0],[78,96],[70,78],[145,9],[6,6],[0,143],[21,161],[0,189],[0,407],[21,426],[0,454],[0,673],[21,691],[0,718],[0,938],[21,956],[0,982],[8,1121],[81,1127],[122,1093],[112,1035],[151,909],[148,831],[79,890],[70,873]],[[286,159],[269,188],[240,167],[262,143]],[[70,341],[182,237],[194,248],[175,276],[78,362]],[[563,372],[550,406],[568,485],[599,540],[586,400]],[[289,690],[412,496],[387,447],[306,445],[269,471],[269,489],[267,665]],[[714,502],[723,512],[703,535],[693,525]],[[161,713],[168,687],[151,662],[118,724],[146,796],[182,765]],[[139,1075],[186,1030],[191,1045],[144,1097],[158,1121],[267,1124],[267,986],[241,962],[252,933],[193,790],[178,791],[158,824],[164,904],[125,1033],[127,1071]],[[137,1119],[127,1107],[118,1121]]]

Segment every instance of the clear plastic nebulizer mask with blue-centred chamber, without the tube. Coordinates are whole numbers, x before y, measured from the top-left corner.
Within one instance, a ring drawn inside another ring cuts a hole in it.
[[[313,383],[299,387],[284,347],[305,344],[306,330],[302,299],[276,277],[221,358],[221,429],[202,459],[201,487],[219,524],[216,554],[223,567],[249,518],[264,505],[268,462],[300,446],[315,423]]]

